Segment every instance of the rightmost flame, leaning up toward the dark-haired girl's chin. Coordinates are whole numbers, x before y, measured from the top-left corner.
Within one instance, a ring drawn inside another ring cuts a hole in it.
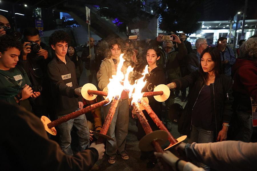
[[[132,94],[133,99],[132,99],[131,103],[137,102],[142,98],[143,93],[141,93],[141,91],[142,91],[142,88],[146,84],[146,80],[144,81],[144,77],[146,74],[149,74],[148,65],[146,65],[144,68],[144,72],[142,73],[143,77],[138,79],[137,82],[134,84],[135,92]]]

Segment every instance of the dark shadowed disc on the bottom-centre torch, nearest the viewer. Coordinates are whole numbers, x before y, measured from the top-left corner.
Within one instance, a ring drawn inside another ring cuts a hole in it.
[[[154,150],[151,144],[151,142],[154,140],[158,141],[158,143],[162,146],[168,140],[168,133],[166,133],[166,131],[157,130],[145,135],[139,141],[139,144],[138,144],[139,149],[142,151]]]

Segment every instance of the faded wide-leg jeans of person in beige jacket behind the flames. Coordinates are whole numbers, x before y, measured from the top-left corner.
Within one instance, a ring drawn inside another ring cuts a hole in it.
[[[107,117],[107,114],[110,108],[111,108],[111,103],[103,107],[105,118]],[[126,153],[125,138],[128,134],[128,119],[129,119],[128,108],[129,108],[128,99],[119,101],[117,108],[115,110],[113,119],[111,121],[111,124],[106,134],[114,139],[114,141],[107,140],[107,145],[106,145],[107,156],[116,157],[116,154]],[[116,135],[115,135],[115,127],[116,127]]]

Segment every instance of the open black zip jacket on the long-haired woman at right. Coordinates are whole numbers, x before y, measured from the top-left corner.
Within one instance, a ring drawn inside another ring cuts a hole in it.
[[[183,135],[189,135],[192,126],[192,109],[198,95],[204,86],[201,84],[202,76],[198,71],[188,76],[174,80],[176,89],[191,87],[188,93],[188,103],[186,104],[182,116],[178,123],[178,132]],[[214,83],[210,84],[212,99],[212,121],[215,122],[214,142],[217,139],[219,131],[222,129],[222,123],[230,121],[232,116],[232,81],[229,77],[221,74],[216,76]]]

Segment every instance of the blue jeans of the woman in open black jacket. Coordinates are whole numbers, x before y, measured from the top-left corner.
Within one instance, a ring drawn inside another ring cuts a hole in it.
[[[188,143],[213,143],[213,133],[214,131],[208,131],[202,129],[201,127],[196,127],[192,125],[190,135],[187,137]],[[197,166],[204,168],[204,170],[210,170],[209,166],[206,166],[203,163],[197,162]]]

